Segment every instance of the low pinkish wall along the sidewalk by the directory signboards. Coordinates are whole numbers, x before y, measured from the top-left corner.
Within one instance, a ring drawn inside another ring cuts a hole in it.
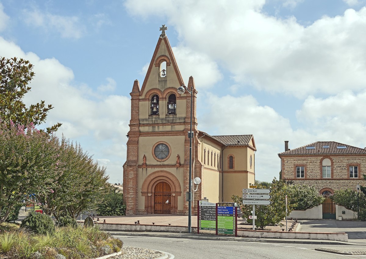
[[[82,222],[79,222],[82,224]],[[173,232],[188,233],[186,226],[166,226],[166,225],[143,225],[143,224],[118,224],[118,223],[97,223],[105,231],[128,231],[128,232]],[[197,233],[197,227],[192,227],[192,232]],[[290,239],[321,239],[348,241],[346,233],[316,233],[316,232],[277,232],[271,230],[241,230],[238,229],[238,236],[256,238],[290,238]]]

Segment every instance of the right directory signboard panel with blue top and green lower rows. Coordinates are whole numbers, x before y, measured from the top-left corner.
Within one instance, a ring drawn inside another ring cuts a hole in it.
[[[235,234],[235,207],[217,206],[217,233]]]

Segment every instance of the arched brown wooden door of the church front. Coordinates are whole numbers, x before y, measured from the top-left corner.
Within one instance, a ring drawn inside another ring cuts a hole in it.
[[[154,210],[156,214],[170,214],[171,189],[167,182],[159,182],[154,189]]]

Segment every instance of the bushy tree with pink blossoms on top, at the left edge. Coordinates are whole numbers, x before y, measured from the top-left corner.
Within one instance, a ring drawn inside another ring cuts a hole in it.
[[[55,141],[32,123],[25,127],[0,121],[0,224],[25,194],[50,181],[56,171]]]

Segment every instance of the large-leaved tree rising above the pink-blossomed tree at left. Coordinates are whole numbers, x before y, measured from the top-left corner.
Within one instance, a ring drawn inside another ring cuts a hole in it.
[[[24,59],[0,58],[0,119],[10,128],[15,125],[40,125],[45,121],[47,112],[53,107],[45,101],[26,107],[24,95],[30,91],[29,82],[34,77],[33,65]],[[47,133],[54,132],[61,126],[57,123],[47,127]]]

